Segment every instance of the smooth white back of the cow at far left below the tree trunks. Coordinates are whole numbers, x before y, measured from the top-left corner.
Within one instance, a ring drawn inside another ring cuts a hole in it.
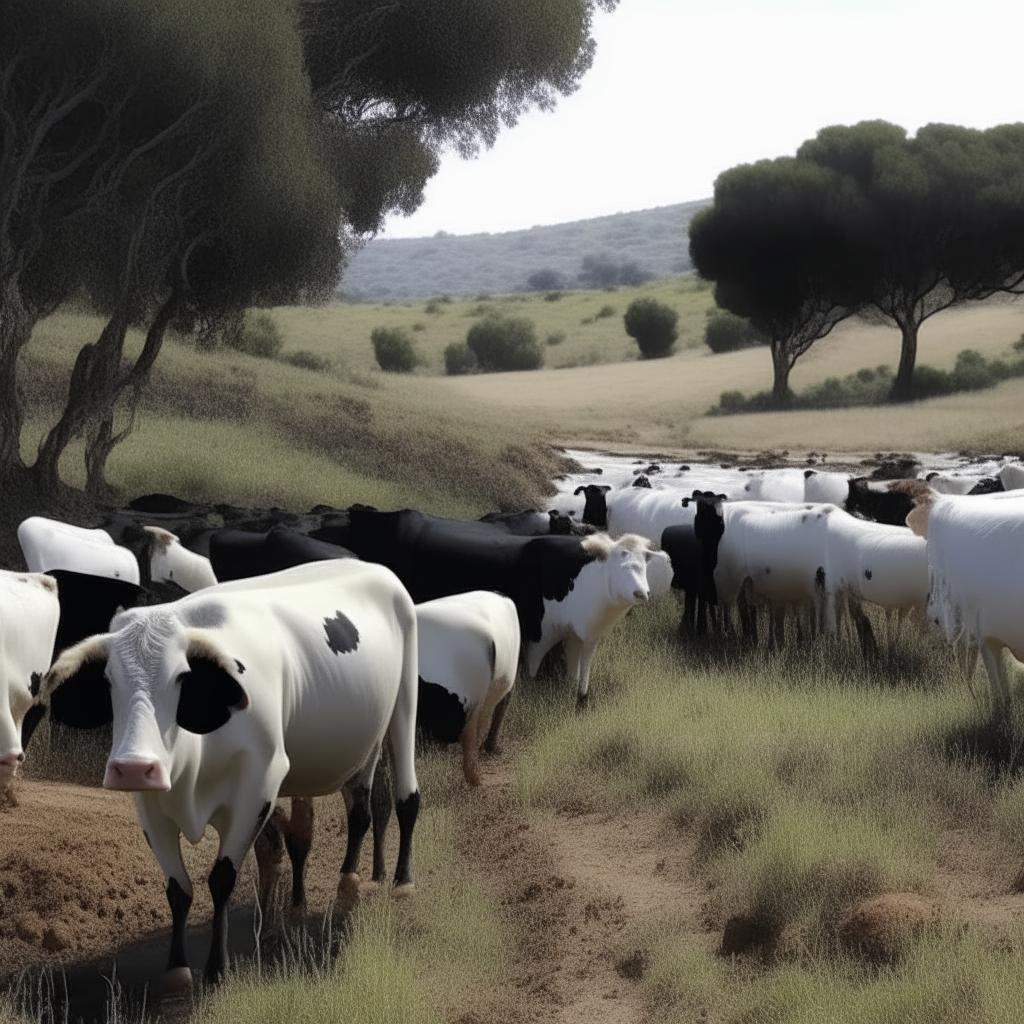
[[[65,569],[138,585],[135,556],[104,530],[31,516],[17,527],[17,541],[30,572]]]

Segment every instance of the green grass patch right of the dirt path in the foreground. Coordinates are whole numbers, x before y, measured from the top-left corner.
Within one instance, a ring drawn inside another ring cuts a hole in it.
[[[941,905],[951,834],[1004,860],[1024,835],[1014,743],[999,753],[944,644],[904,627],[865,665],[852,639],[778,653],[687,644],[677,614],[666,598],[616,628],[589,714],[524,689],[517,724],[531,737],[518,784],[535,813],[646,806],[680,829],[709,882],[699,926],[654,916],[623,940],[651,1018],[1014,1019],[1012,998],[976,996],[996,978],[1024,989],[1024,929],[965,938],[943,911],[882,959],[844,930],[870,897]],[[737,921],[751,944],[719,955]],[[946,1002],[922,999],[932,990]],[[931,1016],[904,1012],[915,1001]]]

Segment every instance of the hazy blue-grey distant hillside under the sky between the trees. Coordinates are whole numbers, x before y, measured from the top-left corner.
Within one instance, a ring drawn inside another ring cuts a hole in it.
[[[589,259],[588,287],[602,272],[624,268],[664,278],[690,269],[687,226],[711,200],[659,206],[634,213],[575,220],[501,234],[445,234],[429,239],[385,239],[357,253],[341,282],[344,294],[366,298],[422,298],[432,295],[507,294],[525,291],[540,271],[556,284],[543,290],[581,287]],[[541,279],[543,282],[543,279]],[[614,282],[610,282],[614,283]],[[623,280],[622,284],[636,284]]]

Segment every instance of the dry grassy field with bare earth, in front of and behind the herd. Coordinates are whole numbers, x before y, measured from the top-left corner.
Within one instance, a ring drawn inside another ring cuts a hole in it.
[[[274,310],[286,351],[327,356],[327,372],[169,342],[111,479],[127,496],[293,508],[364,501],[470,516],[543,500],[558,442],[830,457],[1021,449],[1020,381],[898,409],[706,417],[722,390],[768,386],[766,353],[702,351],[710,295],[685,279],[638,291],[678,304],[682,337],[669,359],[624,358],[634,354],[622,331],[635,294],[627,289],[508,300],[542,338],[565,333],[548,347],[552,369],[523,374],[439,375],[444,345],[464,336],[477,307],[501,299],[438,303],[439,312],[426,303]],[[615,313],[596,316],[604,305]],[[408,378],[376,371],[372,328],[418,323],[427,365]],[[27,451],[52,416],[75,347],[96,330],[72,311],[39,329],[25,366]],[[952,311],[928,323],[920,358],[950,367],[967,347],[997,355],[1022,331],[1024,307],[1014,303]],[[893,332],[846,325],[798,364],[794,384],[897,355]],[[554,369],[558,360],[578,365]],[[73,451],[72,481],[76,463]],[[770,651],[687,642],[677,623],[667,596],[615,628],[598,648],[587,714],[573,711],[557,673],[520,680],[504,751],[483,762],[479,790],[462,781],[453,751],[425,752],[416,896],[368,894],[336,959],[312,940],[284,969],[242,958],[187,1016],[1019,1020],[1024,714],[1007,731],[991,728],[983,677],[975,696],[923,624],[879,617],[882,653],[865,663],[848,637]],[[19,806],[0,811],[0,975],[80,965],[154,935],[159,972],[169,919],[159,871],[130,802],[94,788],[97,750],[47,757],[34,741]],[[79,799],[73,780],[92,788]],[[317,810],[314,939],[341,856],[337,803],[325,798]],[[29,822],[40,838],[20,845]],[[116,863],[112,846],[131,865],[120,889],[103,866]],[[194,856],[205,897],[209,839]],[[101,866],[110,891],[92,893]],[[252,891],[244,871],[241,910]],[[198,900],[194,921],[207,913]],[[39,1016],[33,985],[15,985],[0,1020]]]

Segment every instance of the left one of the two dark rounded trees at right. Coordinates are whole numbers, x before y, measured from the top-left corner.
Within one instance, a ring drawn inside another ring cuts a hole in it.
[[[781,157],[719,175],[714,205],[690,221],[690,259],[716,302],[769,340],[779,408],[797,359],[858,307],[863,257],[849,225],[859,212],[839,172]]]

